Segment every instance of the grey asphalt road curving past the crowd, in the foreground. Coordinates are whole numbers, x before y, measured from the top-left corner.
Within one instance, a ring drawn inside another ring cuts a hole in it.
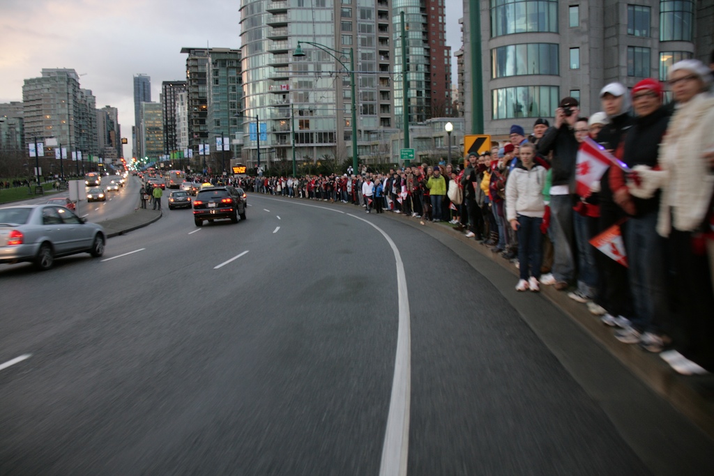
[[[0,370],[0,474],[711,474],[709,440],[473,250],[357,207],[248,203],[0,268],[0,368],[30,355]],[[593,380],[638,408],[613,416]]]

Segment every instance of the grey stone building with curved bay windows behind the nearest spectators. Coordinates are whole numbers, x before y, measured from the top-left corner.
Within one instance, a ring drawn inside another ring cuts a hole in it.
[[[565,96],[589,115],[605,84],[664,80],[675,61],[712,50],[714,0],[464,0],[463,13],[467,133],[528,131]]]

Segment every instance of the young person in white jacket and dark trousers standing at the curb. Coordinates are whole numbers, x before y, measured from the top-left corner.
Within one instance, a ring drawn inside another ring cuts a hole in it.
[[[511,228],[518,232],[518,263],[521,279],[516,290],[538,291],[540,265],[543,262],[543,223],[545,203],[543,185],[545,168],[536,165],[535,146],[521,144],[521,163],[513,168],[506,182],[506,218]]]

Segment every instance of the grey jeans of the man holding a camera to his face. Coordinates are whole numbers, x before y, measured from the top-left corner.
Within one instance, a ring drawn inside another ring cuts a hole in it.
[[[573,213],[570,195],[550,196],[550,239],[553,240],[553,276],[556,281],[569,282],[575,277]]]

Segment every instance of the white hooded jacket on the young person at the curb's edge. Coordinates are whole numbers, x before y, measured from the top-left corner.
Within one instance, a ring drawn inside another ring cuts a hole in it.
[[[545,168],[538,164],[529,171],[519,163],[508,175],[506,182],[506,218],[516,220],[518,215],[542,218],[545,213],[543,201]]]

